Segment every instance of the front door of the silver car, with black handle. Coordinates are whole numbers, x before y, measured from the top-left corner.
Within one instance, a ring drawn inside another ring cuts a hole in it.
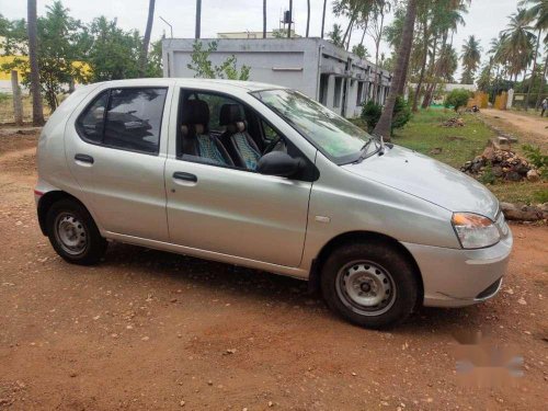
[[[220,126],[222,105],[239,104],[216,99],[215,94],[192,92],[192,98],[207,102],[209,113],[197,115],[196,122],[206,122],[201,138],[228,141]],[[184,103],[181,103],[184,111]],[[241,107],[255,125],[249,133],[256,140],[259,118],[250,118],[251,111]],[[187,118],[190,128],[195,128]],[[221,122],[222,123],[222,122]],[[264,134],[264,133],[262,133]],[[185,138],[178,133],[179,147]],[[259,141],[258,141],[259,142]],[[273,175],[227,164],[215,164],[196,153],[180,152],[165,162],[168,224],[171,242],[221,254],[233,255],[288,267],[299,265],[305,244],[308,201],[312,183]],[[227,148],[227,151],[230,151]],[[236,159],[235,163],[236,163]]]

